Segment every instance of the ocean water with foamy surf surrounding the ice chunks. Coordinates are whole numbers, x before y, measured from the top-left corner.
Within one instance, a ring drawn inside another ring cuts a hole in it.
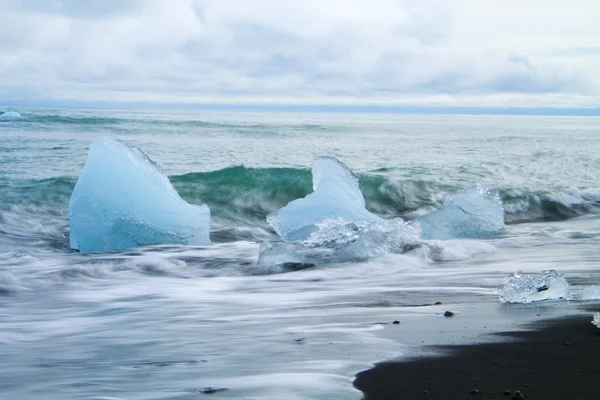
[[[354,375],[412,345],[570,312],[566,301],[501,304],[495,289],[511,273],[600,284],[600,118],[14,111],[0,118],[3,399],[195,399],[207,388],[360,399]],[[181,197],[206,203],[213,244],[71,251],[69,197],[101,135],[141,148]],[[351,168],[367,209],[388,219],[486,185],[505,232],[269,273],[259,249],[281,239],[266,216],[312,190],[321,155]]]

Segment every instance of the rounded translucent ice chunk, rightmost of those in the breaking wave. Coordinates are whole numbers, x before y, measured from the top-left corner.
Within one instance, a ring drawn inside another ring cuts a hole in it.
[[[504,231],[504,209],[497,193],[478,187],[451,197],[418,221],[423,239],[485,238]]]

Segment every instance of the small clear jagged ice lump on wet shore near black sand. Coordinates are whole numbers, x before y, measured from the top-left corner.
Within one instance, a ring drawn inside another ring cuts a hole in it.
[[[566,299],[569,296],[569,283],[555,270],[544,271],[538,277],[519,272],[504,281],[498,294],[503,303]]]

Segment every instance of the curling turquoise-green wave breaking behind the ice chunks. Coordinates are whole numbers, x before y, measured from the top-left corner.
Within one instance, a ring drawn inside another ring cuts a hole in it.
[[[170,177],[183,199],[206,203],[217,222],[266,227],[266,216],[312,192],[312,175],[301,168],[234,166]],[[0,209],[65,215],[77,178],[13,181],[0,179]],[[382,174],[362,174],[359,185],[367,209],[383,217],[416,218],[438,208],[444,198],[464,190],[424,180],[398,181]],[[566,220],[600,214],[600,188],[537,190],[500,188],[506,223]]]

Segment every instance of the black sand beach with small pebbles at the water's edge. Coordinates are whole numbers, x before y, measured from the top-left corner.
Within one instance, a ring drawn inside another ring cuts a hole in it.
[[[600,399],[600,329],[591,320],[590,312],[491,343],[437,346],[444,356],[380,363],[354,385],[365,400]]]

